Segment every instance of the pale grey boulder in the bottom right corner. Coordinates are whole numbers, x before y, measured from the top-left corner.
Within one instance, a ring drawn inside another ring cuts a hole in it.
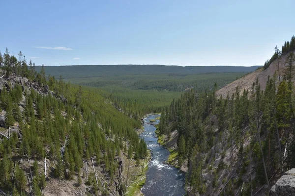
[[[295,196],[295,168],[285,172],[272,186],[270,196]]]

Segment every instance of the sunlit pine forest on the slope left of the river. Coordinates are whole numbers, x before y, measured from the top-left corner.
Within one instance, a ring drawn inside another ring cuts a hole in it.
[[[0,54],[0,195],[39,196],[53,179],[109,195],[118,179],[116,157],[139,163],[148,156],[136,131],[141,122],[118,112],[96,89],[46,77],[44,66],[37,73],[18,55]],[[93,160],[100,172],[86,173]],[[125,184],[117,188],[122,194]]]

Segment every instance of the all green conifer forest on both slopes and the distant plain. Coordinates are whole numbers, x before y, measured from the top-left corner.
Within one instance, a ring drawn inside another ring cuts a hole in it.
[[[220,71],[217,67],[172,66],[168,72],[168,66],[159,66],[159,70],[154,66],[153,70],[153,66],[134,69],[127,65],[114,73],[107,66],[38,67],[27,63],[21,51],[17,59],[6,48],[0,53],[0,109],[5,119],[0,128],[0,191],[39,196],[50,175],[74,179],[78,187],[85,184],[89,194],[108,195],[111,189],[105,185],[114,186],[119,156],[134,159],[137,165],[148,157],[147,145],[137,130],[142,128],[143,116],[158,112],[162,112],[160,134],[169,139],[172,131],[178,131],[177,164],[189,168],[187,191],[205,194],[211,189],[216,193],[218,185],[225,184],[221,195],[232,195],[241,186],[241,194],[249,195],[264,184],[269,187],[273,176],[295,167],[295,142],[289,137],[295,123],[293,52],[286,62],[279,84],[274,75],[268,77],[265,91],[256,81],[242,95],[236,91],[217,98],[218,89],[258,67],[225,66]],[[97,67],[103,72],[95,73]],[[215,71],[207,72],[210,69]],[[59,71],[65,76],[58,76]],[[17,131],[7,137],[10,127]],[[220,144],[220,152],[212,151]],[[284,147],[288,156],[281,153]],[[221,157],[217,165],[215,156]],[[224,158],[238,164],[231,165]],[[34,161],[26,166],[25,159]],[[54,164],[50,174],[37,164],[44,159]],[[98,183],[95,172],[83,180],[83,168],[90,160],[102,168],[107,182]],[[238,167],[242,170],[237,178],[222,172],[232,173]],[[202,177],[205,169],[212,176],[210,187]],[[117,188],[121,194],[126,192],[122,184]]]

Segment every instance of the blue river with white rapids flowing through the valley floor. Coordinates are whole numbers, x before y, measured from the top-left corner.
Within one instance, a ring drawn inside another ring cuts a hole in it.
[[[169,150],[158,144],[154,125],[148,124],[149,120],[160,115],[149,115],[144,118],[145,132],[141,137],[146,141],[148,149],[153,153],[148,164],[147,181],[141,189],[145,196],[184,196],[184,174],[166,162],[169,157]],[[154,124],[159,123],[156,120]]]

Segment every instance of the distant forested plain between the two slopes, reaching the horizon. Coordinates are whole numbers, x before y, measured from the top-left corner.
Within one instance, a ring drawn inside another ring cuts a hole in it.
[[[125,114],[138,118],[161,112],[182,92],[204,91],[234,81],[258,66],[81,65],[45,66],[49,76],[81,86],[96,87]],[[40,71],[41,67],[36,66]]]

